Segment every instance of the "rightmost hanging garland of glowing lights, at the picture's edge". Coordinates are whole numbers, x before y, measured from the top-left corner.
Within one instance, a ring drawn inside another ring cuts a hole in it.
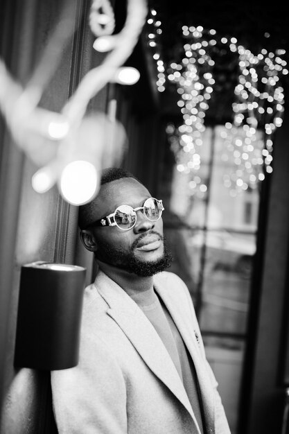
[[[224,182],[238,192],[256,188],[265,173],[272,173],[274,132],[282,125],[284,112],[279,76],[288,74],[288,69],[281,58],[285,50],[268,53],[262,49],[254,55],[232,39],[229,49],[238,53],[240,74],[234,90],[233,123],[225,124],[223,137],[236,169],[224,175]]]

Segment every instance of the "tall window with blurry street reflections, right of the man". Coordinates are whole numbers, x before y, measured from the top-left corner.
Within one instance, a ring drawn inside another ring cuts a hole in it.
[[[218,125],[204,131],[197,173],[184,171],[178,157],[164,223],[175,257],[172,271],[186,281],[191,292],[207,358],[234,433],[256,250],[259,189],[256,184],[255,188],[247,186],[237,191],[236,185],[228,183],[231,173],[236,173],[236,164],[234,155],[229,157],[227,153],[224,130]],[[195,189],[198,182],[207,189]]]

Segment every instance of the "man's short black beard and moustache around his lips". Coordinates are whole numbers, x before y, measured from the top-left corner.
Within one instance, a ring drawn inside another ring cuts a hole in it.
[[[112,248],[105,245],[105,243],[101,243],[102,245],[99,245],[99,250],[96,252],[96,259],[110,263],[112,266],[121,268],[121,270],[125,270],[139,277],[150,277],[157,274],[157,272],[164,271],[166,268],[170,267],[173,261],[173,257],[168,250],[166,238],[155,231],[150,231],[150,234],[157,234],[161,241],[164,242],[164,253],[155,261],[141,261],[134,254],[134,249],[137,247],[137,244],[141,238],[147,234],[139,236],[139,238],[132,243],[130,250]],[[98,252],[101,252],[101,257],[98,257]]]

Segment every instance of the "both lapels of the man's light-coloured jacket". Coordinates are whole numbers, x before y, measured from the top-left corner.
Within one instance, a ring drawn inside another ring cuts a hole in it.
[[[143,358],[143,361],[148,365],[150,370],[152,370],[159,380],[175,394],[175,397],[177,397],[186,410],[188,410],[199,433],[198,423],[196,422],[195,415],[193,415],[193,410],[186,395],[184,385],[179,378],[173,361],[168,356],[168,352],[161,338],[159,338],[157,331],[155,331],[155,328],[148,318],[146,318],[146,315],[139,309],[139,306],[137,306],[132,298],[101,270],[98,272],[94,285],[98,293],[109,306],[107,314],[119,324],[123,333],[125,333],[130,342],[132,342],[132,345],[139,352],[139,355]],[[166,288],[162,286],[161,279],[154,279],[154,286],[157,293],[159,293],[161,299],[166,304],[170,315],[172,315],[179,329],[179,333],[182,335],[189,353],[193,358],[200,383],[206,422],[209,422],[209,425],[213,426],[213,417],[211,415],[211,413],[213,413],[213,397],[211,397],[208,374],[204,367],[204,358],[200,357],[200,348],[198,348],[189,334],[192,324],[186,324],[182,312],[177,311],[175,304],[168,299]],[[213,431],[209,432],[213,433]]]

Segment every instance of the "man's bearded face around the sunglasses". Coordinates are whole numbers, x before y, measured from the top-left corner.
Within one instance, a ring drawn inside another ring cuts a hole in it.
[[[103,184],[97,199],[97,216],[112,214],[120,205],[143,206],[151,195],[145,186],[132,177]],[[148,276],[170,265],[164,247],[163,221],[150,221],[137,211],[137,223],[128,231],[117,226],[92,227],[96,241],[96,257],[137,275]]]

